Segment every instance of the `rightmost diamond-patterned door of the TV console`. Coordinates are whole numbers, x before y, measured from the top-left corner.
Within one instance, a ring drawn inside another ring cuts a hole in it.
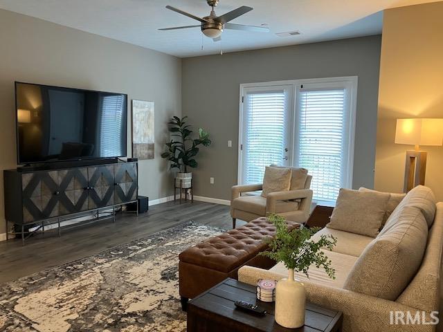
[[[127,203],[137,199],[137,165],[136,163],[122,163],[114,165],[114,202]]]

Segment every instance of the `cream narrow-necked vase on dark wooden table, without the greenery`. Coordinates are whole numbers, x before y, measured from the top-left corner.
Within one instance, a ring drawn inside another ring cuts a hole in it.
[[[293,278],[281,279],[275,288],[275,322],[287,329],[296,329],[305,324],[306,290],[302,282]]]

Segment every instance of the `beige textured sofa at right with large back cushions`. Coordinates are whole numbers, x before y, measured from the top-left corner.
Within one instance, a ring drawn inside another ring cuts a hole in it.
[[[435,325],[422,320],[433,322],[439,310],[443,203],[435,203],[431,190],[424,186],[409,192],[396,207],[392,199],[386,224],[375,238],[332,228],[314,235],[336,237],[334,250],[325,250],[336,279],[329,279],[315,266],[309,270],[309,279],[296,275],[305,283],[309,302],[343,311],[343,331],[435,331]],[[287,270],[282,264],[269,270],[244,266],[238,277],[256,284],[257,279],[287,277]],[[408,313],[416,320],[419,315],[420,324],[402,324]],[[391,324],[395,317],[398,324]]]

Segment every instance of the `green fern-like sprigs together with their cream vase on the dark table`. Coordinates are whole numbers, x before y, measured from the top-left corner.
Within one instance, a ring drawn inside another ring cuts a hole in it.
[[[260,255],[282,261],[289,271],[288,278],[281,279],[275,288],[275,322],[288,329],[296,329],[305,324],[306,291],[305,285],[294,279],[294,271],[309,277],[309,266],[314,264],[335,279],[331,261],[320,249],[332,250],[337,240],[329,235],[321,235],[318,241],[312,241],[311,236],[319,228],[300,225],[300,228],[288,230],[282,216],[269,214],[268,219],[275,225],[275,237],[264,240],[269,244],[269,250]]]

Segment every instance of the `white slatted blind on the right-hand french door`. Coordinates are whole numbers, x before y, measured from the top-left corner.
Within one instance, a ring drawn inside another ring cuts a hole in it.
[[[317,201],[334,202],[345,174],[345,89],[300,91],[299,165]]]

